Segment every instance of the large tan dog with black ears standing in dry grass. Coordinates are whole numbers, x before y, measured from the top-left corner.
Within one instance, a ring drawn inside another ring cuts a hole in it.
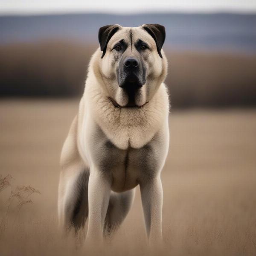
[[[127,215],[139,184],[150,240],[162,238],[160,172],[169,147],[169,101],[163,84],[165,29],[99,29],[79,112],[61,153],[60,224],[102,238]]]

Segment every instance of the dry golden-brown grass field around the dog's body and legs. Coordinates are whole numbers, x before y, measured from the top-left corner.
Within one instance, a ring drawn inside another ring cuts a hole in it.
[[[1,256],[256,255],[256,110],[172,111],[162,172],[164,243],[153,251],[139,190],[104,244],[81,246],[82,232],[76,239],[58,232],[58,160],[77,108],[77,100],[0,101],[0,174],[13,177],[0,192]],[[41,194],[15,190],[23,185]],[[9,202],[11,191],[28,202]]]

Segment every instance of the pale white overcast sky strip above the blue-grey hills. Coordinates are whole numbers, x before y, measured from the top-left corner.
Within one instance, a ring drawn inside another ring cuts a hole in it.
[[[256,12],[256,0],[0,0],[0,14],[168,11]]]

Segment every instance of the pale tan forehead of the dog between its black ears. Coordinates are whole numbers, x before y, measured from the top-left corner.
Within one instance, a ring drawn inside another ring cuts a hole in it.
[[[145,41],[151,46],[155,44],[154,39],[151,37],[151,35],[148,34],[148,32],[145,31],[145,29],[143,29],[142,26],[138,26],[138,27],[120,26],[120,29],[113,35],[113,37],[109,41],[109,44],[110,45],[115,44],[116,42],[122,39],[124,39],[128,44],[131,43],[131,40],[133,42],[136,42],[139,39],[142,41]]]

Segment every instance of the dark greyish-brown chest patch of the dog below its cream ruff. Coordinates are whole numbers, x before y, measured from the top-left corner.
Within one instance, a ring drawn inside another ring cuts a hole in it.
[[[132,189],[141,179],[154,175],[159,169],[157,141],[152,140],[142,148],[117,148],[102,131],[91,137],[90,157],[100,172],[112,178],[111,189],[122,192]]]

